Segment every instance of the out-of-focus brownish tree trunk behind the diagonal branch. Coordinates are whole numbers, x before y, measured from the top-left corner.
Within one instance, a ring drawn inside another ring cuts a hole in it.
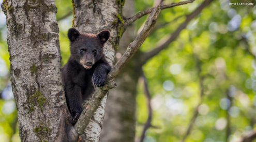
[[[126,1],[123,13],[125,17],[131,17],[134,14],[134,1]],[[118,52],[123,55],[134,38],[134,25],[128,26],[121,39]],[[118,87],[109,91],[101,142],[134,141],[135,97],[141,72],[141,66],[138,67],[139,54],[138,51],[136,56],[132,57],[128,66],[116,78]]]

